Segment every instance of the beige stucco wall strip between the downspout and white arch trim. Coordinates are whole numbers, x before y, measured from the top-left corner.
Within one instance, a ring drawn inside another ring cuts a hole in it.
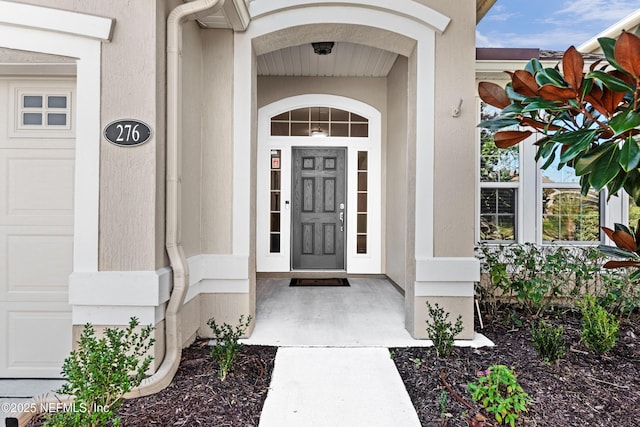
[[[182,50],[182,243],[186,257],[230,254],[233,32],[187,22]]]

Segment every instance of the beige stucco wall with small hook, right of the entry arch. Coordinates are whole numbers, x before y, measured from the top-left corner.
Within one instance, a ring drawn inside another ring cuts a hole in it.
[[[475,224],[475,2],[430,1],[452,18],[436,36],[435,256],[473,256]],[[451,109],[462,99],[462,114]]]

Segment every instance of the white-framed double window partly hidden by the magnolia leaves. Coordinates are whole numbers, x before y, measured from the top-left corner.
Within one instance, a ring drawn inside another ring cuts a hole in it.
[[[480,103],[481,120],[497,113],[495,108]],[[479,132],[478,240],[601,241],[604,197],[593,190],[583,196],[579,177],[572,168],[558,170],[557,161],[545,170],[538,166],[523,167],[527,162],[535,164],[535,148],[523,149],[525,141],[509,149],[498,149],[493,134],[487,129]],[[527,208],[519,209],[522,206]],[[535,214],[529,212],[534,210]]]

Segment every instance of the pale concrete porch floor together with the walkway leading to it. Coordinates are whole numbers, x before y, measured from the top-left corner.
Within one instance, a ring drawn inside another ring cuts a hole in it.
[[[278,346],[260,427],[420,426],[388,347],[424,347],[404,328],[404,297],[384,279],[350,287],[258,282],[246,344]],[[459,346],[493,343],[481,334]]]

